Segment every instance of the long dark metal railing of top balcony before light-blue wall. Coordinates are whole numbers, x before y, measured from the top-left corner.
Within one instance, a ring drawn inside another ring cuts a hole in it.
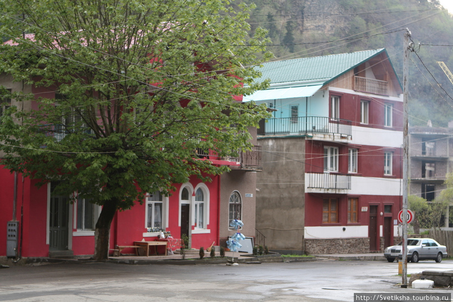
[[[352,122],[341,118],[299,116],[261,120],[258,134],[325,133],[352,136]]]

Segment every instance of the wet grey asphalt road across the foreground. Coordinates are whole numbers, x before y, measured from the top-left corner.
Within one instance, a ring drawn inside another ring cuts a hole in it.
[[[408,274],[453,261],[408,263]],[[64,263],[0,269],[1,301],[353,301],[363,293],[453,293],[396,286],[398,263],[338,261],[226,266]]]

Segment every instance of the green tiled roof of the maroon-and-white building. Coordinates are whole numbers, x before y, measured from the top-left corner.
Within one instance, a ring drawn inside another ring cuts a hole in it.
[[[306,83],[306,85],[325,84],[381,52],[385,52],[387,55],[385,48],[381,48],[266,62],[262,64],[263,67],[258,67],[262,77],[256,81],[262,82],[265,79],[270,79],[271,86],[296,83]]]

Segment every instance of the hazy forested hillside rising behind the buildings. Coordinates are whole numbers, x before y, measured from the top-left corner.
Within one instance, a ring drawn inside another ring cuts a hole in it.
[[[408,77],[409,125],[453,121],[453,16],[437,0],[242,0],[251,32],[266,28],[275,60],[386,48],[403,83],[403,35],[414,51]]]

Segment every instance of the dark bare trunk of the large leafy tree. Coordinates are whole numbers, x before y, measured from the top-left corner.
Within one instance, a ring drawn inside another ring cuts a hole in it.
[[[95,230],[95,252],[97,261],[109,259],[110,226],[117,210],[117,200],[109,200],[102,207]]]

